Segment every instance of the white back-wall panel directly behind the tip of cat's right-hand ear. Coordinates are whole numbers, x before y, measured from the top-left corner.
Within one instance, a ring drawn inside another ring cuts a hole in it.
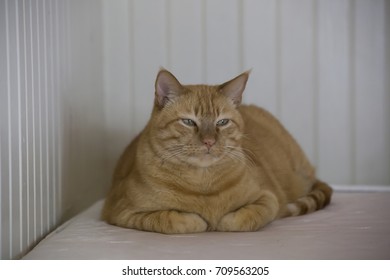
[[[276,114],[278,92],[278,2],[243,1],[243,63],[252,69],[244,102],[260,105]]]

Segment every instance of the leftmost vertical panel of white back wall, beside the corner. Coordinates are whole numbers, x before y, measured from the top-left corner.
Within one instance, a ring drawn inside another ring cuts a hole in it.
[[[104,78],[107,124],[108,161],[113,170],[116,160],[134,136],[134,85],[130,72],[130,9],[131,2],[104,1]],[[152,98],[152,95],[149,96]]]

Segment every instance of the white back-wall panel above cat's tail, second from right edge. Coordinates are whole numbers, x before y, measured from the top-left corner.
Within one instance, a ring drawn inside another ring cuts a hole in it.
[[[318,172],[329,182],[352,180],[349,1],[318,2]],[[337,163],[337,164],[335,164]],[[340,165],[344,168],[340,168]]]

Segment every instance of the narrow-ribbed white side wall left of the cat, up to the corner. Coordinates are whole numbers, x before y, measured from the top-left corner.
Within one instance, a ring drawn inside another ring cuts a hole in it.
[[[97,1],[0,1],[0,258],[108,186]]]

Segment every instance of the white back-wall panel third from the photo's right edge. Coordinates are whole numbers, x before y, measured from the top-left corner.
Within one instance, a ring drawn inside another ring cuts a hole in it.
[[[314,2],[281,1],[281,119],[316,160]]]

